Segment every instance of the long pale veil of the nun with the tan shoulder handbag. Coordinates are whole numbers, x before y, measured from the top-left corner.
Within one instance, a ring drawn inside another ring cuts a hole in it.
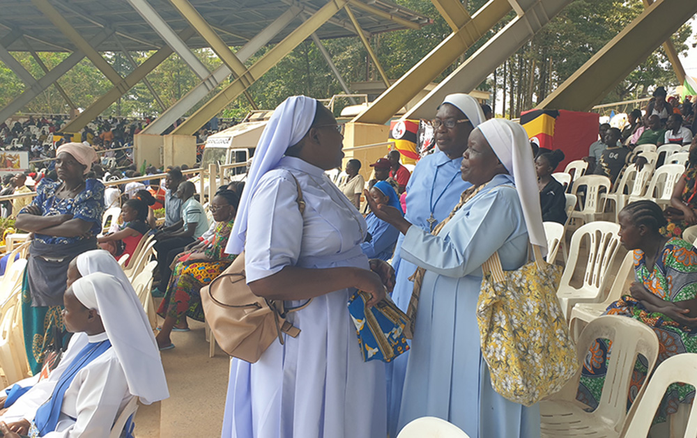
[[[247,175],[245,189],[237,209],[235,224],[230,233],[225,251],[229,254],[239,254],[245,249],[247,234],[247,215],[250,202],[256,186],[264,173],[273,170],[286,149],[296,145],[307,134],[312,126],[312,120],[317,109],[317,101],[306,96],[287,98],[273,111],[261,133],[259,144],[254,150],[252,168]]]

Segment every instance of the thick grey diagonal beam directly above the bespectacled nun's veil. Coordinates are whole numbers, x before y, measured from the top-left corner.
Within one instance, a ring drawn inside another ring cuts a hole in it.
[[[431,118],[446,95],[473,91],[493,70],[533,38],[535,33],[571,2],[572,0],[519,0],[517,3],[523,13],[512,19],[443,79],[418,104],[409,109],[404,118]]]

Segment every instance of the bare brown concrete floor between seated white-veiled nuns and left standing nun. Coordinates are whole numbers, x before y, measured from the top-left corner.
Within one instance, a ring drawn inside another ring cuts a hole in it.
[[[172,332],[176,348],[162,352],[169,398],[138,407],[138,438],[220,437],[230,361],[220,348],[208,357],[204,323],[189,327]]]

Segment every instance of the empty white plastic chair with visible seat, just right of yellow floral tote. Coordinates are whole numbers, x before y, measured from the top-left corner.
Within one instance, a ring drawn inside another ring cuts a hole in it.
[[[607,362],[607,375],[597,409],[585,412],[585,405],[576,401],[576,391],[581,378],[580,367],[596,339],[612,341],[612,359]],[[650,375],[658,349],[658,338],[646,324],[613,315],[592,320],[576,344],[579,359],[576,375],[561,391],[539,402],[542,437],[619,437],[627,418],[627,395],[636,358],[641,354],[647,359]],[[639,390],[638,397],[645,386]]]

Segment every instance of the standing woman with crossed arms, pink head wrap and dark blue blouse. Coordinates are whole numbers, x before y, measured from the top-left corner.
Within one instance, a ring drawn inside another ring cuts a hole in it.
[[[85,178],[96,159],[91,146],[60,146],[56,150],[59,181],[43,178],[36,188],[36,198],[17,214],[17,228],[33,233],[22,283],[24,345],[33,373],[41,369],[54,327],[63,328],[61,306],[68,263],[79,253],[97,247],[104,185]]]

